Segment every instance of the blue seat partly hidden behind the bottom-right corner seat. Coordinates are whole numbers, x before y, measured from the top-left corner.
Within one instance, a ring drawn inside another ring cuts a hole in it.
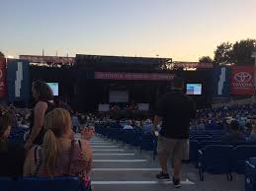
[[[245,161],[254,157],[256,157],[256,146],[244,145],[235,147],[232,154],[233,171],[243,174],[245,172]]]

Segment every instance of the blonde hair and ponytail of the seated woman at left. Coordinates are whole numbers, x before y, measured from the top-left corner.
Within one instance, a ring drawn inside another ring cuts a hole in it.
[[[43,137],[43,165],[48,174],[53,173],[60,152],[59,139],[71,139],[72,121],[67,110],[55,108],[48,112],[43,121],[46,133]]]

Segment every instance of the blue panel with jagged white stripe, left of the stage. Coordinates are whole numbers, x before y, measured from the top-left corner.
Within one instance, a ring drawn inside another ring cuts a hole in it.
[[[7,62],[9,101],[28,101],[31,95],[29,81],[30,63],[27,60],[11,59]]]

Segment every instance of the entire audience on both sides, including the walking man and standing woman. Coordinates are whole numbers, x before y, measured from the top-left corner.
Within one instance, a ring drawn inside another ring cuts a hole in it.
[[[89,140],[94,135],[95,124],[140,130],[144,134],[159,132],[157,152],[162,171],[156,177],[169,177],[166,162],[172,156],[176,187],[180,186],[181,160],[189,156],[190,131],[222,130],[226,132],[223,142],[256,142],[255,103],[196,111],[193,101],[182,94],[182,86],[181,80],[174,81],[174,89],[159,100],[154,115],[115,118],[108,114],[72,112],[70,107],[53,101],[45,83],[34,82],[34,109],[0,106],[0,176],[75,175],[89,185],[93,162]],[[12,127],[28,130],[25,144],[10,141]],[[81,138],[77,139],[75,133],[81,133]]]

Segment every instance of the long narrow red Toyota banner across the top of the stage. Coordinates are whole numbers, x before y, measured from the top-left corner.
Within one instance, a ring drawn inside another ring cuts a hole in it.
[[[141,81],[171,81],[174,74],[159,73],[113,73],[95,72],[95,79],[101,80],[141,80]]]

